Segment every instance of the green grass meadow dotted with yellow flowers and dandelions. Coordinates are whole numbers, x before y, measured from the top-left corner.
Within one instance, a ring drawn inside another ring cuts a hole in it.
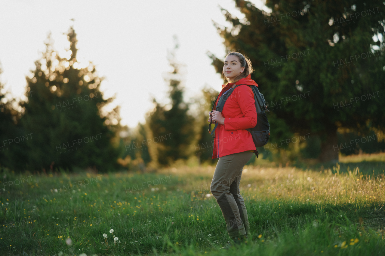
[[[385,255],[379,157],[345,157],[340,165],[314,169],[246,165],[241,194],[252,237],[228,251],[219,250],[229,236],[210,194],[214,166],[176,164],[157,173],[108,174],[3,170],[0,252]]]

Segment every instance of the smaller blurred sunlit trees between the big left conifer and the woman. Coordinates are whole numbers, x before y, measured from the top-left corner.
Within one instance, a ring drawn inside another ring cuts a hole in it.
[[[146,114],[145,124],[139,123],[131,136],[124,141],[126,157],[119,162],[129,168],[153,170],[175,161],[207,162],[212,159],[214,139],[208,132],[208,115],[218,91],[204,88],[203,97],[183,100],[184,65],[176,59],[178,44],[169,51],[168,61],[172,71],[166,74],[170,103],[162,105],[152,99],[154,109]]]

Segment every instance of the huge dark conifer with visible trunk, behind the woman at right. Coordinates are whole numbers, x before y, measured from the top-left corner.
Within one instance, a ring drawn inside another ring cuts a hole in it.
[[[271,141],[319,136],[326,162],[338,160],[337,130],[384,131],[385,47],[372,39],[385,36],[382,1],[268,0],[272,13],[235,3],[245,18],[223,10],[232,27],[216,26],[226,49],[248,56],[256,69],[251,78],[271,108]]]

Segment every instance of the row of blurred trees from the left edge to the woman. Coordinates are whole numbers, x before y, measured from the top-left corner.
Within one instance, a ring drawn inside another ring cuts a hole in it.
[[[67,39],[70,57],[62,58],[50,36],[47,38],[42,58],[35,61],[32,75],[26,76],[25,101],[16,104],[14,99],[6,99],[0,84],[0,167],[16,172],[84,168],[107,172],[154,170],[192,155],[212,162],[210,149],[196,149],[209,138],[203,132],[203,126],[207,129],[204,112],[218,92],[204,89],[204,101],[183,101],[179,74],[183,65],[175,58],[177,45],[169,52],[174,70],[165,78],[171,105],[153,99],[154,110],[146,114],[146,123],[130,130],[120,124],[119,107],[104,110],[113,98],[103,98],[99,88],[104,78],[95,65],[79,68],[73,27]],[[190,113],[191,104],[199,105],[198,112]]]

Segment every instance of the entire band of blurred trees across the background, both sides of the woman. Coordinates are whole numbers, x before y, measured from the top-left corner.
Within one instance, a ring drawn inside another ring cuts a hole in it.
[[[385,150],[385,5],[381,1],[267,0],[272,13],[243,0],[235,4],[245,18],[221,9],[232,26],[214,26],[227,52],[239,51],[250,58],[256,70],[251,78],[270,109],[270,141],[248,164],[306,166]],[[356,11],[368,10],[376,13],[355,17],[349,26],[340,23]],[[293,12],[298,15],[281,16]],[[6,100],[0,83],[1,167],[18,172],[77,168],[152,172],[176,163],[218,161],[211,158],[214,140],[207,120],[219,91],[205,86],[201,95],[184,101],[185,71],[176,58],[177,38],[168,54],[171,71],[164,74],[169,104],[152,99],[154,108],[146,114],[146,122],[134,129],[121,125],[119,107],[104,111],[114,99],[102,97],[103,77],[94,64],[77,67],[73,27],[67,39],[69,59],[58,55],[50,37],[45,41],[46,51],[35,62],[33,77],[26,77],[26,101]],[[281,58],[299,52],[305,55]],[[373,56],[355,61],[354,66],[335,65],[368,52]],[[222,72],[223,57],[208,52],[217,73]],[[352,109],[341,105],[374,92],[375,97],[354,102]],[[285,100],[299,94],[305,97]]]

